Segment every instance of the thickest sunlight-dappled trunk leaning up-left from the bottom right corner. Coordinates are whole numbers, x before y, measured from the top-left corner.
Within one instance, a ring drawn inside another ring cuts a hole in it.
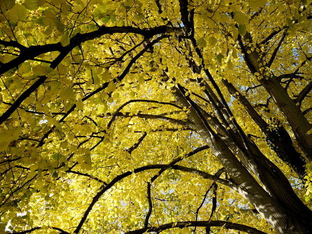
[[[237,155],[241,159],[239,161],[235,156],[236,152],[234,154],[229,147],[237,145],[237,142],[229,141],[239,137],[221,139],[206,121],[205,113],[185,96],[183,90],[176,88],[175,94],[181,105],[190,108],[189,119],[194,124],[193,128],[207,142],[212,153],[227,170],[235,184],[233,188],[254,205],[276,233],[312,233],[312,211],[292,191],[291,185],[279,168],[250,142],[247,142],[248,146],[244,150],[239,145],[234,149],[240,151]],[[262,186],[250,171],[254,172]]]

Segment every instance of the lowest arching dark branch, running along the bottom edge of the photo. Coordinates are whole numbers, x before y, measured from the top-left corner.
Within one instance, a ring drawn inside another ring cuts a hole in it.
[[[266,234],[258,229],[252,228],[247,225],[227,222],[227,221],[183,221],[183,222],[172,222],[159,225],[159,227],[141,228],[135,231],[126,232],[125,234],[143,234],[172,229],[172,228],[185,228],[185,227],[224,227],[226,229],[237,230],[250,234]]]

